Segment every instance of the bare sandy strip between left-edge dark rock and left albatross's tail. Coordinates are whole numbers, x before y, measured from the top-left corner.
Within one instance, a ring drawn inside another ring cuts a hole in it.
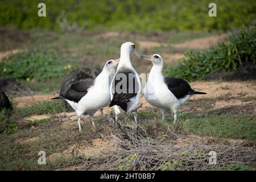
[[[46,94],[46,95],[34,95],[34,96],[23,96],[15,97],[13,99],[13,105],[16,107],[27,107],[35,104],[35,102],[48,101],[53,97],[57,97],[59,94]]]

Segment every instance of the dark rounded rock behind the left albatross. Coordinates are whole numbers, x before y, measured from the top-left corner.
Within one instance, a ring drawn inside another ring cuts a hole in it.
[[[65,95],[67,90],[71,87],[72,84],[79,80],[86,78],[96,78],[101,73],[101,69],[96,67],[85,67],[72,71],[64,78],[64,81],[60,88],[60,95]],[[67,111],[73,111],[72,107],[65,102]]]

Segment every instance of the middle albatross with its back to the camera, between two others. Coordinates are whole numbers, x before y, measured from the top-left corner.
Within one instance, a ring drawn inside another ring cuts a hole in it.
[[[135,50],[134,43],[126,42],[121,46],[120,61],[117,67],[117,72],[110,85],[110,93],[112,100],[109,107],[114,106],[115,119],[119,114],[117,106],[121,107],[127,113],[125,122],[134,114],[135,123],[138,125],[137,107],[139,104],[139,95],[141,94],[141,80],[139,75],[131,65],[130,53],[135,53],[141,57]]]

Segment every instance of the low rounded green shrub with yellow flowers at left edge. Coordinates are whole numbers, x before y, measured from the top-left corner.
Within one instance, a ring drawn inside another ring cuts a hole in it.
[[[56,51],[28,51],[18,53],[0,63],[0,76],[37,82],[63,77],[71,68],[69,57]]]

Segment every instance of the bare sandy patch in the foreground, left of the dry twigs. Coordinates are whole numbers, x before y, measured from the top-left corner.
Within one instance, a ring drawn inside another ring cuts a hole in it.
[[[64,156],[65,158],[72,158],[77,155],[84,156],[98,156],[101,152],[116,150],[118,145],[117,140],[114,138],[105,140],[102,138],[93,139],[90,142],[85,141],[82,144],[73,144],[63,152],[57,152],[49,156],[49,160],[53,161],[56,158]]]

